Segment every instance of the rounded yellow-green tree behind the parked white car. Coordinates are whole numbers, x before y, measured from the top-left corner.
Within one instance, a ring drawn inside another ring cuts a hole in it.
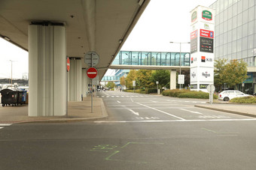
[[[236,85],[247,79],[247,64],[242,60],[231,60],[224,67],[224,72],[220,75],[220,78],[227,82],[227,85],[234,86],[237,89]]]

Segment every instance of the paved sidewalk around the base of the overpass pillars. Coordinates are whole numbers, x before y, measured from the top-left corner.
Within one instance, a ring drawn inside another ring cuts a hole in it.
[[[81,102],[69,102],[68,116],[58,117],[29,117],[28,105],[0,106],[0,124],[29,123],[29,122],[73,122],[91,121],[107,118],[105,105],[102,98],[93,97],[93,113],[91,113],[91,99],[84,97]]]

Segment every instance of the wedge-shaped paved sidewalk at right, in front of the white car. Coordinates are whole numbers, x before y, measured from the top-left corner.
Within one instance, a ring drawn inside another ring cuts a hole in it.
[[[235,103],[206,103],[202,105],[195,105],[203,109],[211,109],[221,112],[228,112],[237,115],[245,115],[256,118],[256,105],[255,104],[235,104]]]

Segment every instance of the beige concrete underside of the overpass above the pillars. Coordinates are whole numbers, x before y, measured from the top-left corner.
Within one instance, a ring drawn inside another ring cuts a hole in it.
[[[1,0],[0,36],[28,50],[29,24],[62,23],[66,25],[67,55],[84,58],[86,52],[96,51],[101,79],[149,1]]]

